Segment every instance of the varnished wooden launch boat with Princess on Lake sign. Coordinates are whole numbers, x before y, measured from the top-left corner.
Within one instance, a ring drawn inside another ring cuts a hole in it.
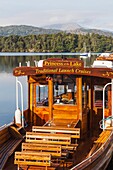
[[[113,155],[112,61],[35,64],[13,70],[17,110],[14,123],[0,128],[0,169],[105,170]],[[25,111],[19,76],[27,76]]]

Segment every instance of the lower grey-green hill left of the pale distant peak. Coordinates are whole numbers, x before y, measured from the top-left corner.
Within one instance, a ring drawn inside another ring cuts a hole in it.
[[[61,32],[56,29],[45,29],[34,26],[27,25],[11,25],[0,27],[0,36],[9,36],[9,35],[20,35],[26,36],[31,34],[54,34]]]

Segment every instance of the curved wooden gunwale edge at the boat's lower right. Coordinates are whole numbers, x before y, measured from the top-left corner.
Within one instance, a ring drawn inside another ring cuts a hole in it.
[[[113,135],[113,131],[109,136],[109,140],[111,139],[111,136]],[[103,143],[101,145],[101,147],[92,155],[90,155],[88,158],[84,159],[82,162],[80,162],[79,164],[75,165],[73,168],[71,168],[70,170],[77,170],[78,168],[82,168],[85,166],[88,166],[88,164],[91,163],[91,161],[94,161],[95,159],[97,159],[97,157],[99,157],[99,155],[101,154],[101,152],[104,152],[104,150],[106,149],[106,147],[108,146],[107,144],[109,144],[108,139],[106,140],[105,143]],[[100,154],[99,154],[100,153]],[[82,166],[82,167],[81,167]],[[81,169],[82,170],[82,169]]]

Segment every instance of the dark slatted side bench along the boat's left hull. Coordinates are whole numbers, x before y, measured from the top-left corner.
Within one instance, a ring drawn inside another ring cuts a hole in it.
[[[0,131],[0,169],[3,169],[8,158],[22,142],[22,136],[14,127],[5,127]]]

